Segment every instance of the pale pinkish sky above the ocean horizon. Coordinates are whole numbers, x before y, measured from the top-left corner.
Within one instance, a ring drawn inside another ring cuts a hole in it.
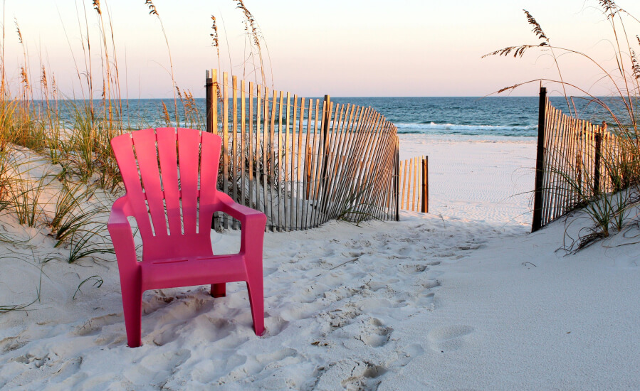
[[[108,34],[107,16],[111,20],[115,53],[107,36],[109,58],[111,63],[117,61],[123,97],[172,97],[171,64],[177,85],[194,97],[204,97],[207,69],[256,80],[251,71],[256,60],[246,60],[243,15],[235,1],[153,2],[159,18],[149,15],[143,0],[100,1]],[[540,77],[557,80],[558,70],[548,52],[532,49],[523,58],[481,58],[505,46],[540,43],[523,9],[533,14],[553,45],[589,53],[605,70],[615,67],[611,28],[597,0],[246,0],[245,4],[266,43],[268,87],[300,96],[484,96]],[[637,1],[621,0],[619,6],[640,17]],[[211,44],[211,15],[218,24],[220,57]],[[44,65],[67,96],[83,96],[78,79],[87,72],[85,58],[91,58],[94,80],[100,79],[104,58],[100,20],[91,1],[4,0],[0,23],[6,75],[14,85],[25,59],[31,80],[39,79]],[[640,23],[628,21],[627,27],[635,39]],[[610,84],[597,82],[603,72],[589,60],[562,55],[558,61],[566,82],[596,95],[611,91]],[[537,95],[538,87],[535,82],[511,95]],[[560,92],[557,85],[547,87]]]

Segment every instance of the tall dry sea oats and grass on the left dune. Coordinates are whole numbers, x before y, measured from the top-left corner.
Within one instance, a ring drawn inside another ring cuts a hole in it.
[[[163,102],[158,117],[167,127],[204,129],[193,93],[179,88],[175,80],[169,39],[159,9],[152,0],[146,0],[144,5],[160,25],[172,78],[174,105],[168,108]],[[246,34],[260,58],[255,68],[261,69],[264,80],[263,36],[243,2],[238,1],[237,5],[246,17]],[[68,262],[112,251],[105,223],[100,223],[106,221],[105,205],[109,203],[88,200],[95,200],[98,193],[112,198],[122,192],[110,139],[130,129],[109,7],[105,0],[93,0],[83,2],[77,11],[77,23],[72,24],[78,29],[81,55],[73,55],[73,63],[79,87],[70,95],[58,90],[56,75],[43,65],[42,58],[37,67],[31,67],[25,44],[28,36],[23,35],[18,20],[14,19],[15,36],[7,37],[8,25],[2,21],[0,43],[0,217],[45,230],[55,246],[65,251],[52,259]],[[3,19],[4,16],[3,11]],[[211,20],[211,42],[220,63],[216,18],[211,16]],[[99,38],[92,38],[95,36]],[[17,71],[9,72],[18,75],[16,80],[6,77],[5,39],[16,39],[22,48]],[[70,48],[72,42],[76,45],[68,38]],[[37,78],[30,77],[34,69]],[[36,154],[29,154],[31,160],[22,165],[16,163],[16,153],[23,156],[24,148]],[[46,161],[54,174],[31,178],[27,167],[33,159]],[[51,196],[52,192],[56,196]],[[0,239],[6,238],[19,245],[19,239],[0,232]]]

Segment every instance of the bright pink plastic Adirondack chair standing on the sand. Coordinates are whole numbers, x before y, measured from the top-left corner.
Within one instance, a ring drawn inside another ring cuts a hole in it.
[[[247,284],[253,330],[264,331],[262,247],[266,216],[216,189],[221,139],[194,129],[145,129],[111,140],[127,193],[112,206],[107,227],[120,270],[129,346],[140,346],[142,292],[211,284]],[[179,156],[179,161],[178,161]],[[240,220],[240,252],[214,255],[211,219],[221,211]],[[127,216],[142,236],[138,261]]]

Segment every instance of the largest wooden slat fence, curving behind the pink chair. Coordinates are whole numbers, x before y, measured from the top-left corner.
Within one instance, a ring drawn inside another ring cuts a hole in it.
[[[399,220],[397,129],[382,114],[228,73],[220,82],[216,70],[207,71],[206,97],[206,129],[223,139],[219,188],[265,213],[268,229]],[[238,226],[214,218],[214,227]]]

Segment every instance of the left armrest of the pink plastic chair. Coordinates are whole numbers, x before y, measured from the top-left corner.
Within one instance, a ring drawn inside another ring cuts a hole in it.
[[[127,196],[118,198],[111,207],[109,221],[107,222],[107,230],[109,230],[109,235],[113,242],[113,249],[115,250],[120,272],[133,271],[139,267],[133,232],[129,220],[127,220],[127,213],[125,213],[128,209]]]

